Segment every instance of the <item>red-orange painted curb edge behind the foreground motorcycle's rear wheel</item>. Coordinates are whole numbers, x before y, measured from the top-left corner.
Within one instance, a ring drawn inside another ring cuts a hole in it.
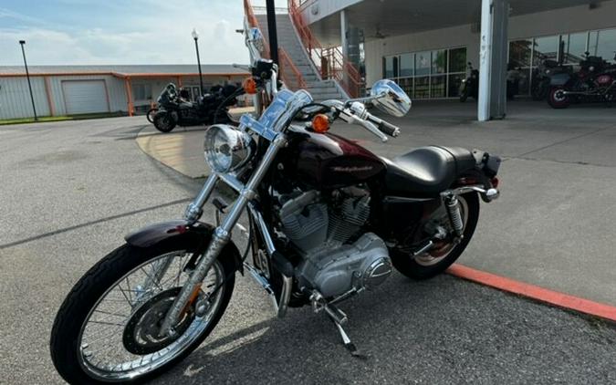
[[[558,291],[515,281],[504,276],[496,276],[491,273],[485,273],[464,265],[451,265],[447,269],[447,273],[452,276],[467,279],[485,286],[495,287],[499,290],[537,299],[541,302],[547,302],[548,304],[557,307],[569,308],[581,313],[590,314],[592,316],[601,317],[616,322],[616,307],[612,307],[610,305],[601,304],[599,302],[590,301],[584,298],[569,296],[569,294],[559,293]]]

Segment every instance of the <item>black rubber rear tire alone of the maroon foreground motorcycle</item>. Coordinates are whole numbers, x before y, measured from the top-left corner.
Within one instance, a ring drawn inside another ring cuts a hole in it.
[[[460,195],[458,199],[464,199],[468,207],[466,224],[464,230],[464,238],[458,245],[449,251],[444,258],[433,265],[420,264],[415,257],[402,253],[400,251],[391,250],[392,264],[402,275],[412,279],[428,279],[443,273],[447,267],[452,265],[456,259],[465,251],[466,246],[471,241],[475,234],[475,227],[479,220],[479,197],[475,192],[465,193]]]

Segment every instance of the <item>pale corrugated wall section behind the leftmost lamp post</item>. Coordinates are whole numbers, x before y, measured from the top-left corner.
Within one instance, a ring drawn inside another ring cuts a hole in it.
[[[50,114],[45,93],[45,79],[30,78],[32,94],[35,99],[38,116]],[[27,79],[0,78],[0,119],[14,119],[33,117],[30,90],[27,88]]]

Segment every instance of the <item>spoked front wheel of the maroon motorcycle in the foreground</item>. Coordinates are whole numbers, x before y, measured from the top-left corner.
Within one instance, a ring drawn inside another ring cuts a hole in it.
[[[79,280],[60,307],[51,356],[69,383],[139,381],[168,369],[209,335],[235,284],[233,262],[219,258],[171,337],[162,321],[190,271],[186,250],[122,246]]]

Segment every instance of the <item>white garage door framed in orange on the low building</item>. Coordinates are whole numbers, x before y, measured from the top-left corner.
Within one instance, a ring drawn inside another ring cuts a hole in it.
[[[62,89],[68,115],[110,110],[104,80],[67,80]]]

